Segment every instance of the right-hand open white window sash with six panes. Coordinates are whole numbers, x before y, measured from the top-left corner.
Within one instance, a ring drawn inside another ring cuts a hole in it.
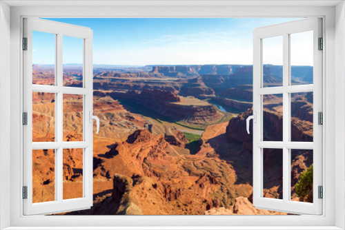
[[[292,85],[290,76],[290,34],[313,32],[313,83]],[[286,211],[288,213],[322,213],[322,199],[318,198],[318,186],[322,186],[322,127],[317,122],[318,112],[322,112],[322,50],[318,48],[318,39],[322,38],[322,19],[311,18],[268,25],[256,28],[253,33],[253,205],[257,209]],[[282,86],[264,87],[263,40],[281,36],[283,39],[283,78]],[[313,92],[313,142],[293,142],[291,137],[290,93]],[[283,95],[283,139],[282,141],[264,141],[264,95]],[[264,149],[282,149],[283,198],[273,199],[263,196],[264,185]],[[313,202],[297,202],[291,198],[291,149],[313,149]]]

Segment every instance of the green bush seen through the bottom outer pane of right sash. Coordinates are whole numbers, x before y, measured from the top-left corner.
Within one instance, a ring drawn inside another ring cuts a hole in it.
[[[301,201],[313,202],[313,165],[299,175],[295,191]]]

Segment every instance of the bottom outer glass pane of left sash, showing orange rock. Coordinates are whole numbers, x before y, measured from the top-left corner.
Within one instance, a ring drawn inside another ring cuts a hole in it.
[[[55,200],[55,149],[32,150],[32,202]]]

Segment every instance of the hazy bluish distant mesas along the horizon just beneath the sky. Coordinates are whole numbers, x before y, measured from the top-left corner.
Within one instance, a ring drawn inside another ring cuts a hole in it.
[[[79,70],[81,64],[64,64],[63,70]],[[33,65],[34,70],[49,70],[54,65]],[[176,78],[194,78],[200,75],[231,75],[248,79],[246,84],[253,84],[250,76],[253,76],[253,65],[93,65],[95,72],[114,72],[137,74],[146,72],[152,76],[167,76]],[[281,85],[283,78],[282,65],[264,65],[264,83],[270,86]],[[293,65],[291,66],[291,81],[293,84],[313,83],[313,66]]]

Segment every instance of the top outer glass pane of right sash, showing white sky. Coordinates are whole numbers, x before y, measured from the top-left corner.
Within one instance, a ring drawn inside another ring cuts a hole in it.
[[[313,31],[290,34],[291,85],[313,84]]]

